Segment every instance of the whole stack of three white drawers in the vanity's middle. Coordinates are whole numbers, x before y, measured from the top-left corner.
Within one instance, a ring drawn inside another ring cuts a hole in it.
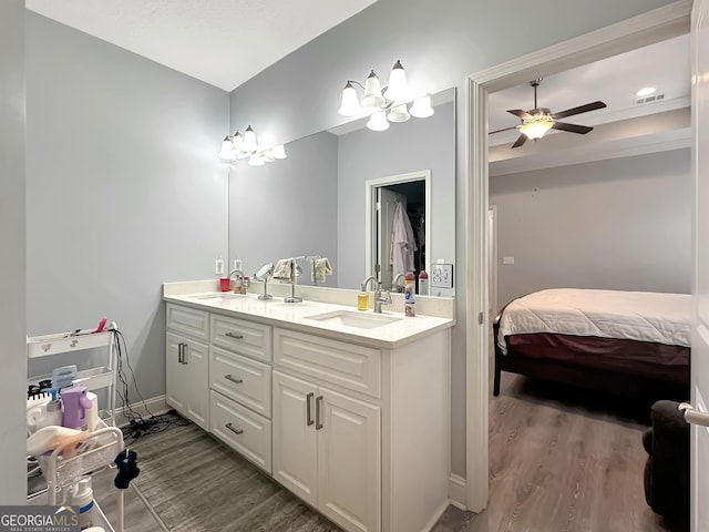
[[[271,327],[212,314],[209,431],[271,472]]]

